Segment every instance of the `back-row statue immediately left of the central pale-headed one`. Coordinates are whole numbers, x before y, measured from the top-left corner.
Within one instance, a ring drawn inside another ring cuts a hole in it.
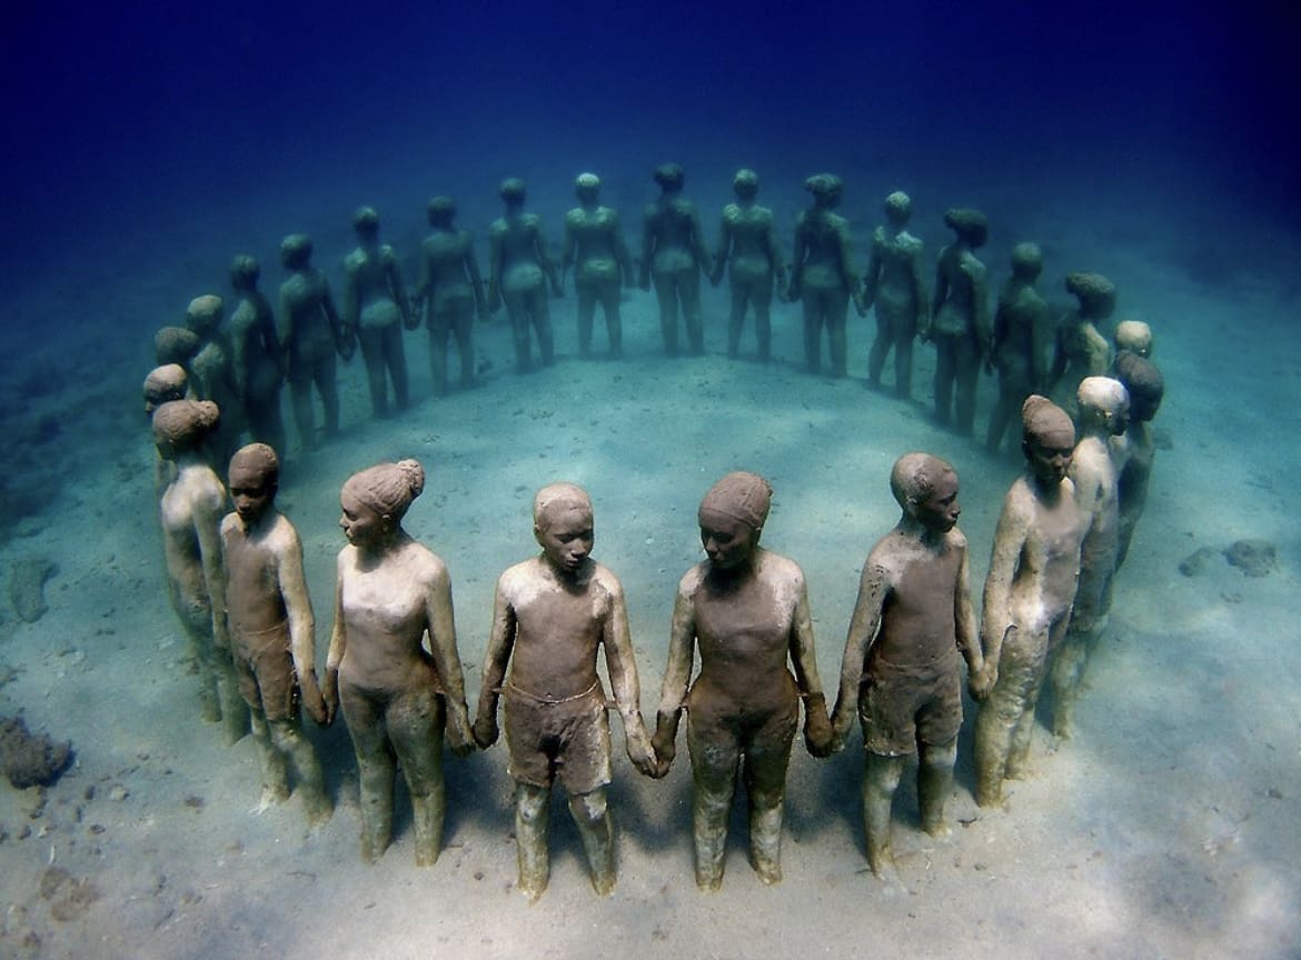
[[[556,360],[552,315],[546,286],[552,295],[562,294],[556,264],[546,248],[543,220],[524,212],[524,181],[510,177],[497,190],[506,212],[488,230],[488,307],[506,304],[510,332],[515,342],[515,372],[533,368],[530,328],[537,334],[543,366]]]

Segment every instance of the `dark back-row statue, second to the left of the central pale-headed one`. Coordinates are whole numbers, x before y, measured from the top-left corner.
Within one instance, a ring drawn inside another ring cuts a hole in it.
[[[457,341],[461,388],[475,382],[475,317],[488,320],[488,300],[479,276],[479,259],[470,230],[455,225],[457,203],[435,196],[427,208],[433,233],[420,245],[420,278],[416,282],[416,315],[423,306],[429,329],[429,371],[433,393],[448,393],[448,338]]]

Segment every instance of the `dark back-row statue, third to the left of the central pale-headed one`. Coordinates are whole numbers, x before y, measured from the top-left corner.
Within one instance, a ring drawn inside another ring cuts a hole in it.
[[[416,316],[393,247],[380,243],[380,215],[358,207],[353,215],[356,248],[343,258],[343,325],[355,330],[371,386],[371,412],[389,415],[389,385],[398,410],[411,405],[402,330],[415,329]]]

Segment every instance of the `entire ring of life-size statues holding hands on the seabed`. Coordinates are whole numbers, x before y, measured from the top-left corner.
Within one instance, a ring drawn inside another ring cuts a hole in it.
[[[280,247],[286,278],[278,310],[258,287],[258,261],[239,255],[230,265],[238,303],[229,320],[221,298],[206,294],[189,304],[183,327],[155,337],[159,366],[144,381],[144,403],[157,450],[169,597],[198,665],[199,713],[221,723],[228,743],[251,734],[263,804],[285,800],[293,787],[312,825],[328,820],[333,805],[302,712],[321,726],[342,714],[356,756],[367,861],[390,843],[399,767],[416,862],[438,859],[442,743],[462,757],[489,749],[501,732],[501,704],[515,783],[519,890],[536,899],[546,888],[546,818],[558,780],[592,886],[610,892],[613,757],[610,695],[597,670],[602,653],[628,760],[640,773],[669,773],[687,714],[695,875],[703,890],[722,883],[738,782],[749,861],[764,883],[781,881],[786,773],[801,715],[814,757],[843,749],[857,717],[866,856],[882,878],[895,872],[891,805],[909,757],[917,758],[922,829],[948,833],[945,807],[954,792],[964,670],[978,704],[972,749],[980,807],[999,805],[1004,782],[1025,775],[1045,682],[1054,699],[1053,732],[1072,735],[1084,669],[1106,628],[1151,473],[1150,423],[1164,381],[1150,359],[1147,324],[1124,320],[1108,342],[1102,330],[1115,311],[1115,287],[1082,272],[1066,280],[1077,306],[1054,316],[1036,289],[1043,255],[1029,242],[1012,248],[990,317],[987,269],[977,256],[989,225],[976,209],[945,213],[954,241],[939,251],[928,291],[925,246],[908,232],[912,203],[902,191],[885,200],[886,222],[872,234],[860,278],[848,221],[835,212],[839,177],[821,173],[804,182],[812,206],[795,226],[790,265],[773,212],[756,203],[753,170],[742,169],[732,181],[736,200],[722,211],[713,255],[697,208],[683,196],[682,168],[664,164],[653,180],[661,195],[644,211],[636,280],[618,213],[601,204],[596,174],[575,181],[579,206],[565,216],[558,269],[541,219],[524,212],[524,182],[509,178],[498,190],[505,212],[489,229],[487,289],[474,238],[455,226],[450,198],[428,204],[432,233],[410,294],[393,247],[380,242],[379,213],[360,207],[353,216],[358,246],[343,261],[342,308],[312,267],[311,239],[290,234]],[[998,518],[980,622],[968,544],[958,528],[958,473],[938,457],[905,453],[889,477],[899,522],[863,565],[829,710],[804,574],[760,545],[773,488],[752,472],[727,473],[700,502],[705,559],[678,584],[652,734],[641,715],[623,588],[592,555],[592,501],[574,484],[553,483],[533,500],[540,552],[497,580],[471,719],[448,567],[402,527],[424,488],[422,464],[407,459],[362,470],[340,493],[346,546],[319,676],[302,542],[276,509],[286,450],[282,384],[289,382],[299,445],[310,450],[338,431],[336,362],[347,363],[356,346],[375,416],[409,406],[403,330],[422,319],[436,395],[449,390],[449,342],[459,358],[458,385],[476,381],[487,362],[474,345],[475,320],[502,306],[515,371],[526,373],[536,360],[550,366],[548,299],[562,295],[571,269],[584,359],[593,351],[597,306],[609,354],[622,355],[621,291],[635,284],[643,290],[653,284],[665,351],[679,353],[680,315],[687,353],[704,353],[704,272],[713,285],[729,276],[729,358],[739,356],[752,311],[757,358],[771,359],[777,295],[801,304],[809,372],[821,367],[825,330],[831,376],[846,376],[851,302],[860,316],[876,311],[870,386],[881,386],[892,351],[894,392],[909,399],[913,341],[934,345],[935,416],[959,433],[973,431],[981,367],[997,372],[986,447],[999,449],[1019,414],[1025,470]],[[246,433],[252,442],[241,446]]]

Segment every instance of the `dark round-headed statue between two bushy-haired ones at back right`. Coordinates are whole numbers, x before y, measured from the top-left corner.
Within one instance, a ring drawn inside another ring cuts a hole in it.
[[[994,337],[986,362],[991,371],[998,371],[998,401],[989,415],[985,436],[990,453],[998,453],[1003,434],[1025,398],[1049,389],[1056,330],[1047,304],[1034,289],[1042,269],[1043,254],[1037,243],[1012,247],[1012,276],[998,293]]]

